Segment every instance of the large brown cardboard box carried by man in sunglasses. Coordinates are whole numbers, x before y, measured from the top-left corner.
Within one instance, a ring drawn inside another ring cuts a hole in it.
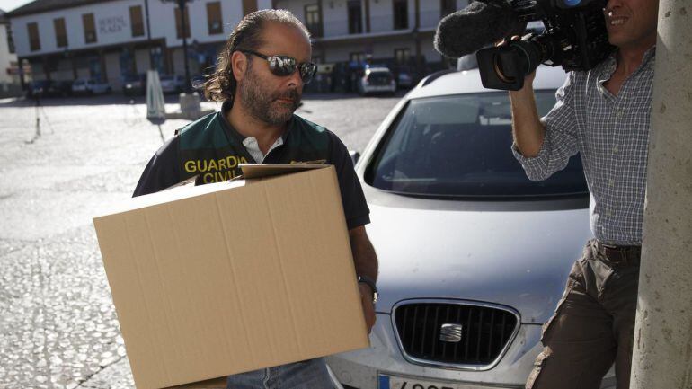
[[[93,219],[138,388],[368,347],[336,174],[302,169],[254,167]]]

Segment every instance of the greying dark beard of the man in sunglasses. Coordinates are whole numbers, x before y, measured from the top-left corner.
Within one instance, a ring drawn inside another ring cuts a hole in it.
[[[272,93],[262,88],[262,82],[253,74],[251,68],[245,72],[240,88],[243,106],[255,119],[260,119],[271,125],[286,123],[300,105],[300,93],[296,88],[284,93]],[[277,99],[290,99],[290,104],[278,102]]]

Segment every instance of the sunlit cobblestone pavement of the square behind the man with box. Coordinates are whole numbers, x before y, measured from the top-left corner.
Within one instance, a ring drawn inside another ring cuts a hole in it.
[[[91,218],[186,123],[149,123],[141,100],[0,101],[2,389],[134,387]],[[397,101],[312,95],[297,113],[362,151]]]

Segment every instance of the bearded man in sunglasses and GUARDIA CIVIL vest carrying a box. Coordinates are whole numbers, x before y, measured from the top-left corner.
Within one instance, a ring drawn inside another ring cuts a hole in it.
[[[146,165],[134,196],[164,190],[198,176],[198,183],[240,175],[238,164],[333,164],[339,180],[353,261],[368,331],[375,323],[377,256],[364,225],[369,209],[350,155],[332,132],[295,115],[303,85],[315,75],[306,27],[285,10],[250,13],[238,23],[205,85],[208,100],[223,102],[177,132]],[[242,222],[242,221],[239,221]],[[227,386],[329,388],[321,358],[229,376]]]

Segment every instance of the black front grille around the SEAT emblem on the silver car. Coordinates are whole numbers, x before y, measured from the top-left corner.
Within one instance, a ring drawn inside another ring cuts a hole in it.
[[[440,340],[443,324],[460,324],[461,340]],[[395,308],[396,332],[406,357],[414,362],[488,367],[500,357],[517,324],[516,314],[485,305],[414,303]]]

